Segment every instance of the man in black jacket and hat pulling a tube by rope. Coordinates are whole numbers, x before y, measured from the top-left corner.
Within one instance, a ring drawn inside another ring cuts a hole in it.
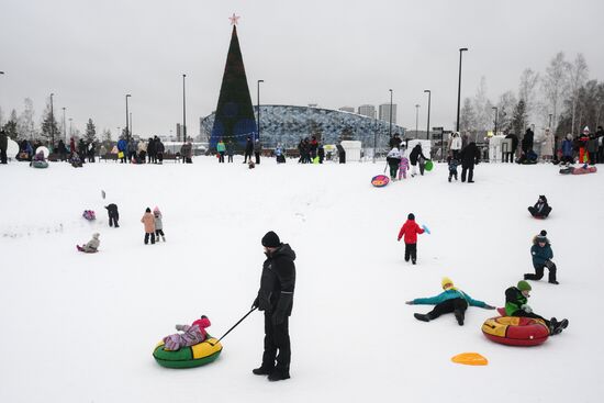
[[[295,253],[272,231],[262,237],[262,246],[267,259],[253,307],[265,312],[265,352],[262,365],[251,372],[268,374],[269,381],[280,381],[290,378],[289,316],[295,288]]]

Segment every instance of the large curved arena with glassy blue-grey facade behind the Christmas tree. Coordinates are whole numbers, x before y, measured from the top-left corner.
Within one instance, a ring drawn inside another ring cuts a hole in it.
[[[257,107],[254,113],[258,115]],[[210,148],[216,146],[216,138],[211,138],[214,125],[214,113],[201,119],[201,135],[210,139]],[[399,133],[401,138],[405,128],[392,124],[392,135]],[[243,136],[255,135],[256,130]],[[260,105],[260,139],[265,148],[278,144],[286,148],[295,148],[300,139],[316,136],[324,144],[337,144],[343,139],[360,141],[363,148],[388,146],[390,122],[363,116],[357,113],[331,109],[294,105]]]

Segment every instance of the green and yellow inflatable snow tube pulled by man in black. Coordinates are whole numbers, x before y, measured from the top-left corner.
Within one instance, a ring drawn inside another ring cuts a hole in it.
[[[222,345],[217,342],[217,339],[208,336],[205,340],[193,346],[182,347],[177,351],[164,349],[164,342],[159,342],[153,351],[153,358],[166,368],[201,367],[214,361],[221,355]]]

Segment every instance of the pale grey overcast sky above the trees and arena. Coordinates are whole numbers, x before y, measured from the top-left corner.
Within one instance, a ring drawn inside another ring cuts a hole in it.
[[[390,100],[398,123],[425,127],[456,119],[459,47],[462,98],[485,76],[491,100],[517,91],[523,69],[544,71],[559,51],[583,53],[590,77],[604,77],[603,0],[2,0],[0,108],[23,109],[29,97],[40,122],[55,110],[83,130],[125,125],[134,134],[169,134],[182,121],[187,74],[188,133],[216,108],[231,38],[237,31],[253,102],[338,109]],[[60,119],[60,114],[57,119]]]

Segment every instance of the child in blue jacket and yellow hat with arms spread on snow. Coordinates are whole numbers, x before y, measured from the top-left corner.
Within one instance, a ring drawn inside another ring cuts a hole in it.
[[[454,287],[451,279],[448,277],[443,278],[441,281],[443,291],[436,296],[430,298],[416,298],[415,300],[407,301],[407,305],[436,305],[427,314],[414,313],[416,320],[423,322],[429,322],[444,313],[455,313],[455,318],[459,326],[463,326],[463,320],[466,317],[466,310],[468,305],[484,307],[485,310],[494,310],[483,301],[473,300],[470,295]]]

